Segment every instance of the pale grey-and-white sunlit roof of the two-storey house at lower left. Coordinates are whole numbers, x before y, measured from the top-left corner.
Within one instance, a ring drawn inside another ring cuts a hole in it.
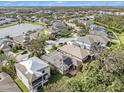
[[[15,67],[20,70],[30,81],[34,81],[42,76],[41,71],[48,66],[49,65],[47,63],[35,56],[15,64]]]

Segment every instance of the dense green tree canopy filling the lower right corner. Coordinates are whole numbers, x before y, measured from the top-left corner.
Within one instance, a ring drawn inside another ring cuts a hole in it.
[[[72,91],[124,90],[124,48],[103,51],[95,61],[83,64],[82,75],[68,83]],[[101,58],[100,58],[101,57]]]

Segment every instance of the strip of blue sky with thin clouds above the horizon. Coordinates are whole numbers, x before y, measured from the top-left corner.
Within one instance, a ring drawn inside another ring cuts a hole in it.
[[[0,1],[0,6],[124,6],[124,1]]]

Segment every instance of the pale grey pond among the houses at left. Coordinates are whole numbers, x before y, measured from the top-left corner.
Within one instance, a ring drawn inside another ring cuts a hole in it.
[[[16,37],[22,35],[23,33],[28,32],[29,30],[42,29],[41,25],[36,24],[18,24],[15,26],[10,26],[6,28],[0,28],[0,38],[4,38],[5,36]]]

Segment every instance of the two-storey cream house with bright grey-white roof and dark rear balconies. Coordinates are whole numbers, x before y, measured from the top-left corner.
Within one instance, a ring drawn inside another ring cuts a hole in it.
[[[16,63],[15,68],[18,78],[30,91],[37,90],[37,87],[46,83],[50,77],[49,65],[35,56]]]

